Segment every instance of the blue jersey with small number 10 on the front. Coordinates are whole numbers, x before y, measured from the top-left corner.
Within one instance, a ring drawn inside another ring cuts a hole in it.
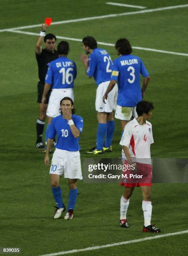
[[[83,118],[78,115],[72,115],[72,120],[82,133],[83,131]],[[57,133],[57,144],[56,148],[67,150],[67,151],[78,151],[80,150],[80,146],[78,144],[79,138],[75,138],[73,133],[70,130],[70,125],[68,124],[68,120],[64,119],[62,115],[58,115],[57,117],[52,119],[51,124],[49,125],[48,138],[55,138],[55,134]]]

